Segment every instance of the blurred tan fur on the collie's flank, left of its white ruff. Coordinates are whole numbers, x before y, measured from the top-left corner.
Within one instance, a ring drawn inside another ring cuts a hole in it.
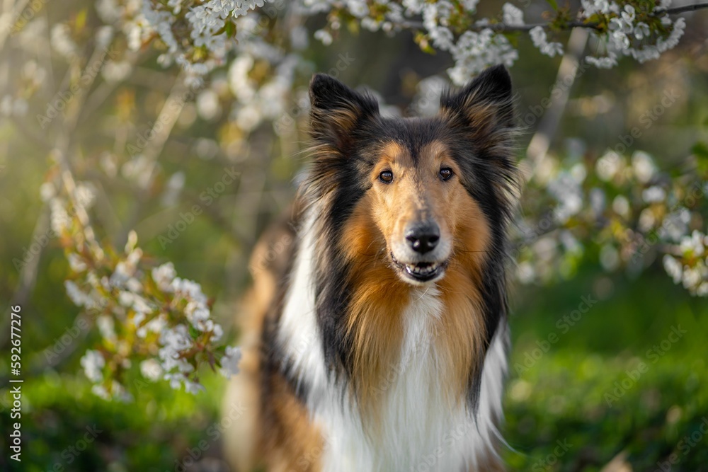
[[[297,211],[293,208],[290,213]],[[265,466],[266,470],[274,472],[320,471],[321,434],[309,422],[304,405],[297,401],[280,377],[265,380],[270,387],[268,420],[278,423],[278,431],[288,433],[272,435],[263,430],[261,332],[292,258],[295,231],[291,225],[290,219],[283,219],[263,234],[253,248],[249,263],[253,288],[239,309],[242,313],[239,320],[242,329],[241,372],[229,383],[222,407],[224,416],[244,407],[244,413],[231,421],[224,432],[224,442],[229,444],[227,459],[236,466],[236,472],[251,472],[257,466]]]

